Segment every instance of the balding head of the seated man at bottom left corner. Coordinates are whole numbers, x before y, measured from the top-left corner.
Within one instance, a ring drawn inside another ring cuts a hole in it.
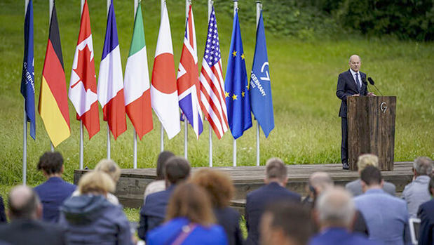
[[[36,219],[40,216],[41,201],[30,187],[18,185],[9,192],[8,209],[12,220],[18,218]]]

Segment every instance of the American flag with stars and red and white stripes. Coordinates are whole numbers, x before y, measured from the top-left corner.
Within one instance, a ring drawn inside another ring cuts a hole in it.
[[[222,57],[214,6],[208,23],[208,35],[201,69],[201,108],[217,138],[228,130]]]

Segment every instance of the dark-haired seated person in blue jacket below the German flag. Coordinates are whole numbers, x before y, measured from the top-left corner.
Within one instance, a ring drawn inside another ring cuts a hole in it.
[[[42,202],[43,220],[57,223],[59,220],[59,207],[63,204],[72,192],[75,185],[62,180],[63,157],[59,152],[45,152],[37,165],[47,181],[34,187]]]

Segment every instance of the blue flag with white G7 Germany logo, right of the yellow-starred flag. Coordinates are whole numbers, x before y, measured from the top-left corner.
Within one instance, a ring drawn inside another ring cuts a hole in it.
[[[265,137],[268,137],[274,128],[274,115],[262,11],[256,32],[252,74],[250,74],[250,101],[252,102],[252,112],[255,119],[257,119],[262,131],[264,131]]]

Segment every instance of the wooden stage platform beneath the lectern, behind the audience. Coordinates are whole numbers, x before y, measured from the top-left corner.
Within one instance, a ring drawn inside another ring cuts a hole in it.
[[[236,193],[232,206],[241,208],[247,192],[264,185],[265,166],[239,166],[239,167],[215,167],[219,171],[228,173],[233,179]],[[194,173],[198,168],[193,168]],[[88,170],[74,171],[74,183],[77,184],[80,176]],[[306,195],[306,183],[311,173],[324,171],[330,173],[336,185],[345,185],[358,178],[356,171],[344,171],[341,164],[304,164],[287,165],[287,188],[301,195]],[[383,171],[383,178],[396,185],[396,192],[404,190],[405,185],[412,180],[412,162],[395,162],[393,171]],[[116,187],[116,197],[123,206],[132,208],[140,207],[143,203],[144,189],[148,183],[154,180],[156,171],[154,168],[122,169],[121,178]]]

